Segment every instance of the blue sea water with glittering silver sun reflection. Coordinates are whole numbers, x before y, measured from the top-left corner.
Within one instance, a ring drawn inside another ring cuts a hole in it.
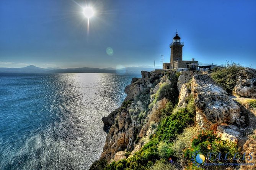
[[[101,118],[140,76],[0,73],[0,169],[89,169],[105,143]]]

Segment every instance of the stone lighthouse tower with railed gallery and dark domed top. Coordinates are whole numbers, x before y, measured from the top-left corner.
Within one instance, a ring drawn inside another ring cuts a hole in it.
[[[184,42],[181,42],[181,38],[176,32],[176,36],[173,38],[173,42],[170,44],[171,48],[171,63],[173,61],[182,61],[182,47]]]

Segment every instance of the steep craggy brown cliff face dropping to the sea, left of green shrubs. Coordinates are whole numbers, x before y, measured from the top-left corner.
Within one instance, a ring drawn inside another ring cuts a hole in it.
[[[142,78],[132,79],[131,84],[125,88],[125,101],[129,104],[122,104],[119,109],[102,118],[104,127],[109,127],[109,130],[106,131],[108,135],[101,158],[108,161],[119,159],[122,157],[121,151],[133,151],[141,146],[136,143],[138,136],[143,137],[147,133],[150,122],[160,121],[160,115],[157,113],[159,102],[150,111],[147,110],[147,105],[150,101],[149,93],[154,94],[153,89],[161,80],[166,82],[168,78],[163,77],[161,73],[142,71]]]

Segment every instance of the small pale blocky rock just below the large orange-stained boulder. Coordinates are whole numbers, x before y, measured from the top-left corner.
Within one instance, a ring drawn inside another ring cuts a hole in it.
[[[217,127],[217,130],[218,132],[222,133],[221,140],[238,142],[240,132],[238,131],[238,128],[235,125],[219,125]]]

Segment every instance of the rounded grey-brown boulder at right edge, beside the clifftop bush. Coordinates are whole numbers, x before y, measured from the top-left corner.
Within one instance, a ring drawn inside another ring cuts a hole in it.
[[[236,95],[242,97],[256,96],[256,70],[246,68],[238,72],[235,86]]]

